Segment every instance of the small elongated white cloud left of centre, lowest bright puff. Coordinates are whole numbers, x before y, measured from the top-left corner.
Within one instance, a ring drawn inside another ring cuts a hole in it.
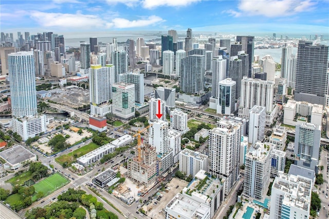
[[[152,15],[147,17],[147,19],[140,19],[129,21],[127,19],[115,18],[112,20],[112,24],[116,28],[131,28],[131,27],[144,27],[149,25],[155,25],[159,22],[164,22],[165,20],[161,19],[161,17]]]

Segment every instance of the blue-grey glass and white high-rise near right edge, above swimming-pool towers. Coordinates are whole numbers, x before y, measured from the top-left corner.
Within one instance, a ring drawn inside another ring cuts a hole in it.
[[[312,123],[296,124],[294,154],[297,166],[316,171],[321,141],[321,126]]]

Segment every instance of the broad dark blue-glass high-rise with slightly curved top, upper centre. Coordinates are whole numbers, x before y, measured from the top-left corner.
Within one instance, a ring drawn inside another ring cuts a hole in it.
[[[180,88],[187,94],[199,94],[204,90],[205,56],[194,54],[181,59]]]

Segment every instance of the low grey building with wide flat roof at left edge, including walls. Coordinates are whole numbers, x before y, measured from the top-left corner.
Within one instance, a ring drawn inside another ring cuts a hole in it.
[[[36,161],[36,155],[19,144],[13,145],[13,147],[0,152],[0,156],[2,159],[6,160],[4,168],[10,170],[19,169],[24,162]]]

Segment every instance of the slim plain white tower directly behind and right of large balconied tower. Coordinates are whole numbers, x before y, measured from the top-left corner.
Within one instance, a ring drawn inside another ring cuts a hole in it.
[[[265,107],[254,105],[249,111],[249,143],[263,141],[265,134]]]

